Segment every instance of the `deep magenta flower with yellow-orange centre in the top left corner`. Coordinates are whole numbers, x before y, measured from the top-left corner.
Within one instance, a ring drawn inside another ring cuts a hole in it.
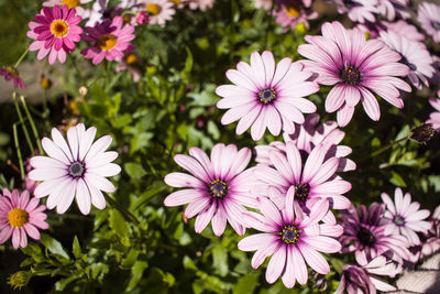
[[[81,21],[80,17],[75,15],[75,8],[68,9],[67,6],[55,6],[52,9],[44,7],[40,14],[35,15],[36,22],[30,22],[28,36],[35,40],[30,46],[30,51],[38,51],[38,61],[48,54],[48,64],[54,64],[56,59],[61,63],[66,61],[66,53],[75,50],[75,43],[81,40],[82,29],[77,24]]]

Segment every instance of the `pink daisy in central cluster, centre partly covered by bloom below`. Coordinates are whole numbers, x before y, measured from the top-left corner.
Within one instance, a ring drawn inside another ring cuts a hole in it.
[[[286,154],[270,151],[268,156],[274,168],[265,164],[255,167],[254,175],[260,183],[255,184],[253,194],[270,196],[279,204],[284,203],[287,190],[293,188],[295,200],[307,205],[309,209],[320,198],[328,198],[334,209],[350,207],[351,202],[342,194],[351,189],[351,184],[336,177],[339,159],[331,157],[324,162],[327,151],[323,145],[318,145],[310,152],[304,165],[299,150],[293,142],[286,143]]]

